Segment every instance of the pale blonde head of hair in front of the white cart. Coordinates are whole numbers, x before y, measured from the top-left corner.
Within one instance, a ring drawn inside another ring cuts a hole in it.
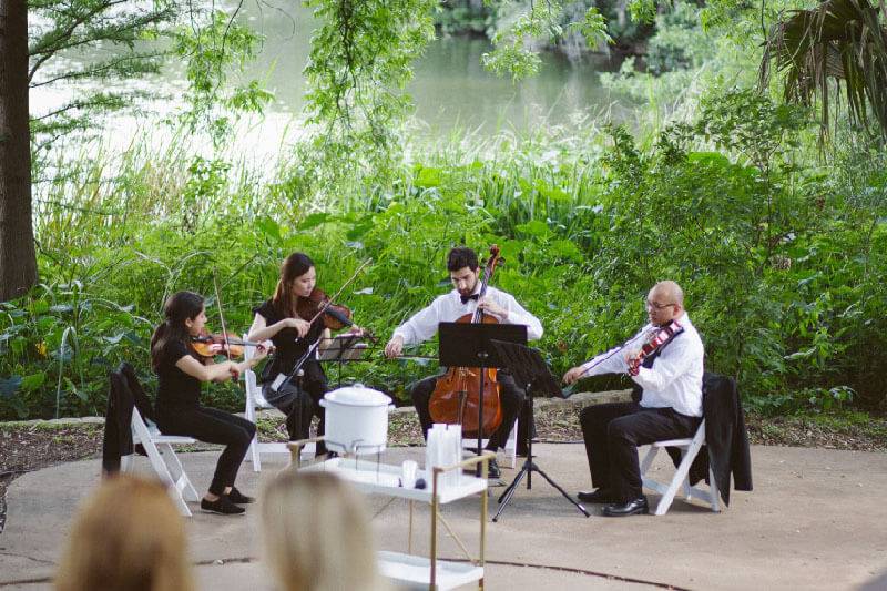
[[[335,475],[279,472],[263,490],[262,532],[282,590],[387,589],[363,500]]]

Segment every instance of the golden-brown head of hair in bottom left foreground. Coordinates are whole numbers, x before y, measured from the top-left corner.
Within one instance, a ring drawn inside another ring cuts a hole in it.
[[[55,574],[58,591],[191,591],[185,530],[166,489],[120,475],[75,517]]]

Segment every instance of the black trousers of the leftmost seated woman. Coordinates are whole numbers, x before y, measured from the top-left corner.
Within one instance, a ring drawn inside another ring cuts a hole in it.
[[[163,435],[183,435],[225,446],[215,467],[210,492],[222,495],[233,487],[256,426],[243,417],[197,406],[194,408],[159,408],[157,427]]]

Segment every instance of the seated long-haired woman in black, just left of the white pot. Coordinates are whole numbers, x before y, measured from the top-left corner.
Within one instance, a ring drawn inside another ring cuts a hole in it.
[[[328,304],[318,297],[316,289],[317,272],[314,262],[304,253],[293,253],[281,265],[281,278],[274,296],[253,309],[255,319],[249,328],[249,340],[271,339],[277,350],[265,367],[259,380],[265,399],[286,415],[286,430],[289,439],[308,437],[314,416],[320,419],[318,435],[324,432],[324,408],[320,399],[328,391],[326,374],[316,354],[305,360],[303,375],[277,389],[274,385],[279,374],[289,374],[296,363],[318,339],[329,338],[330,328],[350,324],[335,322],[341,316],[337,309],[325,309]],[[319,314],[318,314],[319,313]],[[350,324],[351,332],[360,329]],[[317,454],[325,454],[320,442]]]

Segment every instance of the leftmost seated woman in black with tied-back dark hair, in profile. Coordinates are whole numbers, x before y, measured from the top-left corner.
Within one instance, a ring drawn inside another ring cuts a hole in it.
[[[201,406],[201,383],[236,378],[267,353],[257,348],[255,357],[248,361],[220,364],[196,353],[192,339],[203,332],[206,313],[203,297],[193,292],[173,294],[163,312],[165,320],[151,337],[151,365],[160,381],[157,426],[164,435],[183,435],[225,446],[201,508],[223,514],[243,513],[243,507],[237,505],[253,502],[253,499],[234,487],[234,479],[256,426],[245,418]]]

